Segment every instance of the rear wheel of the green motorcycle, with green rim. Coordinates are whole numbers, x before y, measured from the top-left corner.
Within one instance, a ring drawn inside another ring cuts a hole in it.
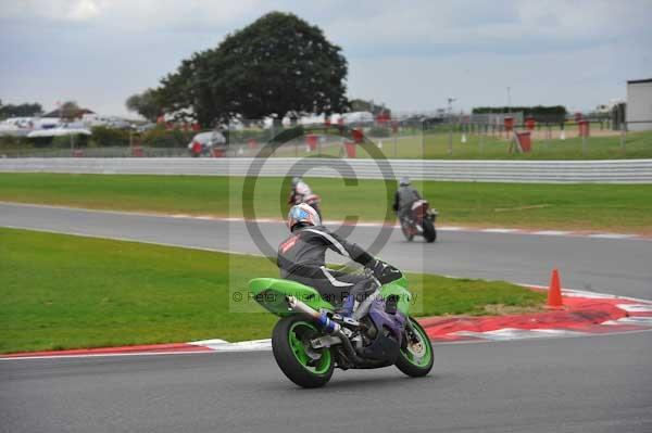
[[[319,334],[314,323],[300,316],[285,317],[274,327],[274,359],[285,375],[299,386],[324,386],[333,375],[335,358],[330,348],[315,351],[310,346],[310,340]]]

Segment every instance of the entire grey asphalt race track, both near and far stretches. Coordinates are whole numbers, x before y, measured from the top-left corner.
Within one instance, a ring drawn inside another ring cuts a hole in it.
[[[242,222],[0,204],[0,226],[258,253]],[[286,232],[261,225],[271,243]],[[374,228],[356,228],[362,244]],[[393,232],[401,268],[652,298],[652,242]],[[423,258],[422,258],[423,257]],[[218,335],[215,335],[218,336]],[[336,371],[300,390],[271,352],[0,361],[0,432],[650,432],[652,332],[438,344],[432,373]]]

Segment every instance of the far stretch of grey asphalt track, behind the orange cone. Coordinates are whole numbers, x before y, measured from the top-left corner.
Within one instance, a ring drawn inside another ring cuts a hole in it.
[[[240,221],[0,203],[0,226],[261,254]],[[283,224],[259,227],[274,250],[287,237]],[[379,230],[356,227],[349,239],[367,246]],[[652,300],[649,240],[446,231],[436,243],[425,244],[406,242],[397,229],[380,257],[403,270],[541,285],[557,267],[567,289]]]

